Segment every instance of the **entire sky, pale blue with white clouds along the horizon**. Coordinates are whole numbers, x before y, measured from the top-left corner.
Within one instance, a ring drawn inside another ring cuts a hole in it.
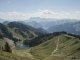
[[[0,0],[0,18],[80,19],[80,0]]]

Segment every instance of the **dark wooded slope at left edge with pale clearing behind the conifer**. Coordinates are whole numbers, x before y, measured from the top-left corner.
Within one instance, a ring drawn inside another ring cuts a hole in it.
[[[15,39],[17,40],[17,39]],[[14,38],[11,32],[8,30],[7,26],[0,23],[0,51],[6,51],[6,43],[7,47],[15,47]],[[9,46],[10,45],[10,46]]]

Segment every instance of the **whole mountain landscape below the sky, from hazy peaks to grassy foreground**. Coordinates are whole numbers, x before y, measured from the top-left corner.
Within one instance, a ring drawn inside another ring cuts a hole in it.
[[[15,59],[80,59],[80,21],[31,18],[1,22],[0,60]]]

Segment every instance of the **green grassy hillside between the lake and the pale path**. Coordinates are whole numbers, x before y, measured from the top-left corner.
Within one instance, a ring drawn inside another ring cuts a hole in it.
[[[51,40],[40,44],[39,46],[33,47],[31,52],[34,57],[38,59],[44,59],[48,57],[51,52],[56,48],[56,37]],[[54,42],[52,42],[54,41]]]

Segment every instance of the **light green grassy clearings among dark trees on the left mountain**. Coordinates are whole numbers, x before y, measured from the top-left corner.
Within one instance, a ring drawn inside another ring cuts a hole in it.
[[[29,30],[28,33],[27,33],[27,32],[24,32],[24,34],[25,34],[27,37],[23,37],[21,34],[16,33],[16,32],[15,32],[15,28],[12,28],[12,29],[11,29],[11,28],[8,27],[8,30],[12,33],[13,37],[21,40],[21,41],[19,41],[19,42],[16,42],[17,45],[23,44],[23,42],[24,42],[25,40],[31,40],[31,39],[33,39],[34,37],[37,36],[33,31],[30,31],[30,30]],[[29,34],[30,34],[30,35],[33,35],[33,37],[32,37],[32,38],[29,38],[29,37],[28,37]]]

